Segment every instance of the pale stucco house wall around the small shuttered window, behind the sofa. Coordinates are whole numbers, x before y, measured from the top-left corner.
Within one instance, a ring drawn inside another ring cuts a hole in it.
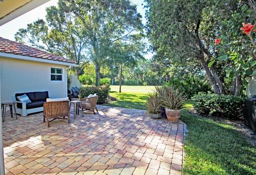
[[[2,103],[11,102],[16,93],[49,91],[49,97],[67,96],[65,65],[0,57]],[[62,81],[51,81],[51,67],[62,68]]]

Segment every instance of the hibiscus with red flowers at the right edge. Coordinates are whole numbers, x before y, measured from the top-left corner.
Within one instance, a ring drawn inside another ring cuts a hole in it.
[[[219,57],[213,58],[209,66],[222,65],[226,82],[230,82],[229,93],[239,96],[247,85],[247,77],[256,75],[255,1],[241,3],[231,17],[221,22],[221,43],[215,48]]]

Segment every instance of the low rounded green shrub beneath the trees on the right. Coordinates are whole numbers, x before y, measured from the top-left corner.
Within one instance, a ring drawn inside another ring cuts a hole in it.
[[[198,93],[192,99],[198,113],[231,120],[243,117],[244,99],[241,97]]]

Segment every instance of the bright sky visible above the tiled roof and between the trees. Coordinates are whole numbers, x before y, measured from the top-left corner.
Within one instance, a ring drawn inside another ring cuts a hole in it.
[[[45,20],[45,8],[57,5],[58,0],[51,0],[50,2],[47,2],[36,9],[33,9],[18,18],[4,24],[3,26],[0,26],[0,36],[6,39],[10,39],[15,41],[14,34],[20,29],[20,28],[26,28],[28,23],[32,23],[36,21],[37,19],[44,19]],[[143,24],[146,23],[145,19],[145,10],[143,9],[143,0],[131,0],[133,4],[137,5],[138,12],[142,15],[142,22]],[[150,59],[152,54],[148,53],[145,55],[147,59]]]

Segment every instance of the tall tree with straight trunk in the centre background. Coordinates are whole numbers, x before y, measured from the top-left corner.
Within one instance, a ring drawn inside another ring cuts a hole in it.
[[[83,23],[91,60],[95,65],[96,82],[100,84],[100,69],[108,58],[111,45],[142,31],[141,15],[130,1],[62,0],[59,5]]]

